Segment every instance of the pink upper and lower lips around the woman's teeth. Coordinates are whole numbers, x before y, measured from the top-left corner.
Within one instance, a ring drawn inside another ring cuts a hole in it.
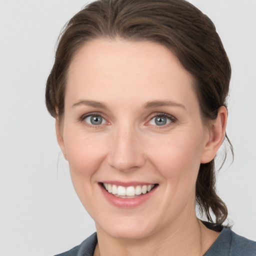
[[[129,186],[129,185],[146,185],[146,184],[152,184],[152,183],[138,183],[138,182],[116,182],[116,181],[104,181],[104,183],[110,183],[110,184],[118,184],[118,185],[122,185],[122,186]],[[105,188],[103,187],[102,183],[98,183],[103,196],[106,198],[106,200],[119,208],[135,208],[138,207],[139,205],[143,204],[145,201],[147,201],[155,192],[155,190],[157,189],[157,185],[150,190],[149,192],[145,193],[145,194],[141,194],[135,198],[120,198],[120,197],[116,197],[114,195],[112,195],[111,193],[108,193]]]

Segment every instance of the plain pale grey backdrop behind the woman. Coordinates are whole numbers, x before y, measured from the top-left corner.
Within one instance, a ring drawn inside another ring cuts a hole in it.
[[[232,65],[234,161],[219,172],[217,189],[233,230],[256,240],[256,0],[190,1],[215,23]],[[44,105],[58,33],[85,3],[0,0],[0,256],[53,255],[95,230]]]

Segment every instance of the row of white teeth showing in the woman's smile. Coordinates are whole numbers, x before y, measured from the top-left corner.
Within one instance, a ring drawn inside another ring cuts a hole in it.
[[[117,196],[135,196],[149,192],[154,187],[154,184],[125,187],[103,183],[103,186],[109,193],[112,193]]]

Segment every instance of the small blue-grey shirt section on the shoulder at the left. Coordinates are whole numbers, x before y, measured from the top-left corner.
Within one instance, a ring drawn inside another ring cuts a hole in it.
[[[86,238],[81,244],[72,249],[57,254],[55,256],[93,256],[95,246],[97,244],[96,232]]]

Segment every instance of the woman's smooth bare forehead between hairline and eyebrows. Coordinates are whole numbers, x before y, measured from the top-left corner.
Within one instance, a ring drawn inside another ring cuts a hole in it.
[[[77,50],[68,70],[66,99],[185,102],[195,97],[192,84],[190,73],[165,46],[101,38]]]

